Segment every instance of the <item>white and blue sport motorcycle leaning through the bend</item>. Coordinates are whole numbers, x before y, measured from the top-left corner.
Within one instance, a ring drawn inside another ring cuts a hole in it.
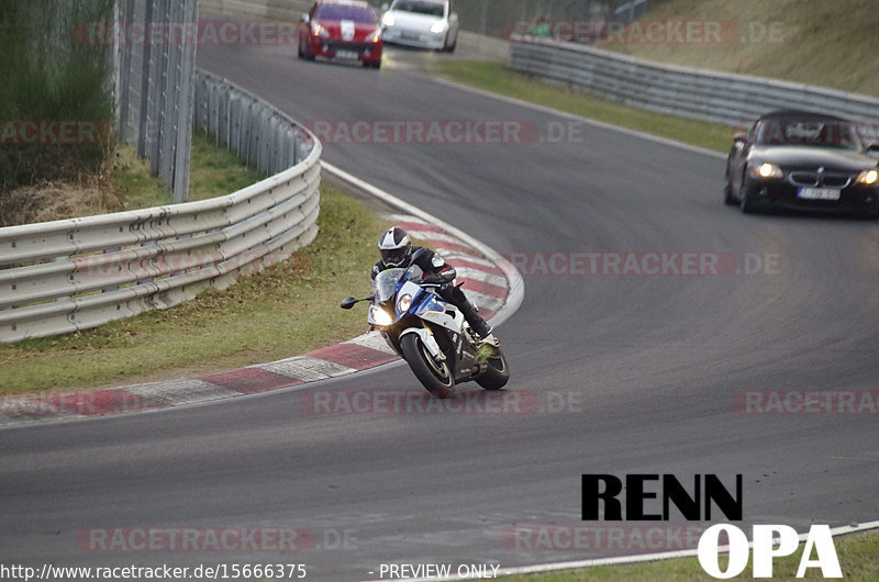
[[[421,283],[413,253],[405,268],[386,269],[372,281],[372,293],[347,298],[345,310],[369,301],[367,323],[409,363],[412,373],[437,398],[448,398],[461,382],[476,381],[499,390],[510,379],[507,358],[497,346],[479,343],[464,314],[437,293],[437,284]]]

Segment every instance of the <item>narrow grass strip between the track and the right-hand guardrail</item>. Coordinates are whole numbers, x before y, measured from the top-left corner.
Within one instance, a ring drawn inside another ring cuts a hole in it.
[[[518,72],[502,63],[446,60],[437,65],[437,72],[456,82],[478,89],[724,154],[732,144],[733,132],[725,125],[663,115],[605,101],[578,91],[547,85],[533,76]]]

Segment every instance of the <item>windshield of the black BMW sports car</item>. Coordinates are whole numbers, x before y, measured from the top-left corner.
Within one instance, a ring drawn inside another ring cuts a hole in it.
[[[757,125],[757,145],[812,146],[858,150],[857,127],[841,120],[763,120]]]

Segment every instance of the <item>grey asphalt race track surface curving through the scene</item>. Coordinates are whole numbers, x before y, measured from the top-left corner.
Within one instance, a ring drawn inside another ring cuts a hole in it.
[[[202,47],[199,64],[303,122],[514,120],[544,137],[566,123],[432,81],[416,65],[436,55],[388,56],[372,71],[298,61],[287,48]],[[502,541],[514,525],[583,525],[581,473],[717,473],[725,483],[742,473],[744,524],[802,531],[879,515],[875,414],[733,406],[743,390],[876,389],[875,223],[744,216],[721,203],[722,159],[589,125],[558,143],[325,143],[324,158],[502,254],[701,251],[732,255],[738,269],[748,254],[777,265],[719,276],[526,269],[524,302],[499,329],[509,390],[549,408],[565,402],[561,412],[315,415],[300,404],[313,390],[421,390],[397,366],[305,391],[2,430],[3,562],[297,561],[311,579],[357,580],[382,562],[509,567],[621,553]],[[290,557],[76,542],[93,527],[232,526],[304,527],[320,547]],[[337,548],[343,530],[348,544]]]

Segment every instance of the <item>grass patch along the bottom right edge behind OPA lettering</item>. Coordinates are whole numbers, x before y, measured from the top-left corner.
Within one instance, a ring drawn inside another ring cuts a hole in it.
[[[869,582],[879,580],[879,534],[857,534],[834,538],[836,555],[843,570],[843,579],[852,582]],[[823,580],[821,570],[810,568],[804,578],[797,578],[803,546],[792,556],[777,558],[772,567],[772,580]],[[812,556],[814,558],[814,555]],[[725,557],[721,557],[720,566],[726,568]],[[731,580],[752,580],[752,564],[741,575]],[[681,558],[645,562],[631,566],[607,566],[587,568],[585,570],[555,572],[550,574],[533,574],[511,577],[509,582],[594,582],[594,581],[661,581],[689,582],[714,580],[708,575],[696,558]]]

